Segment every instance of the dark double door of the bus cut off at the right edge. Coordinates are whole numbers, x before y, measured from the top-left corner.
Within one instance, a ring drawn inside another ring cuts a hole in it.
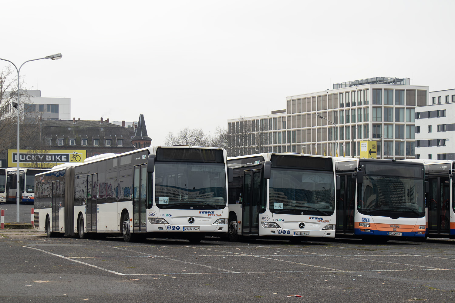
[[[450,233],[450,179],[435,177],[429,181],[428,233]]]

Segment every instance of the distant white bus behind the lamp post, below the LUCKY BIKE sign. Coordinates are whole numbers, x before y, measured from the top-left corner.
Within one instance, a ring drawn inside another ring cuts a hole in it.
[[[39,174],[49,169],[30,169],[20,168],[20,196],[19,202],[24,204],[33,204],[35,200],[35,174]],[[6,169],[6,199],[8,203],[17,201],[17,168],[10,167]]]

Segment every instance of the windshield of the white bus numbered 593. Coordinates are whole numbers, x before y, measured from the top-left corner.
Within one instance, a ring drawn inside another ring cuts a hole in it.
[[[334,213],[333,172],[272,169],[269,208],[275,214],[329,216]]]

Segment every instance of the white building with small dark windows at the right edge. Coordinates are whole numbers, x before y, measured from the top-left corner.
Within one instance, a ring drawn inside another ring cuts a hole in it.
[[[415,157],[455,160],[455,89],[429,95],[431,105],[415,108]]]

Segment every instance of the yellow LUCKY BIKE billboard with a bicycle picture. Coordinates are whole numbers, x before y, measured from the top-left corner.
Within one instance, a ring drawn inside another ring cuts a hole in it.
[[[20,149],[20,167],[51,168],[63,163],[82,163],[86,150]],[[17,149],[8,149],[8,167],[17,167]]]

